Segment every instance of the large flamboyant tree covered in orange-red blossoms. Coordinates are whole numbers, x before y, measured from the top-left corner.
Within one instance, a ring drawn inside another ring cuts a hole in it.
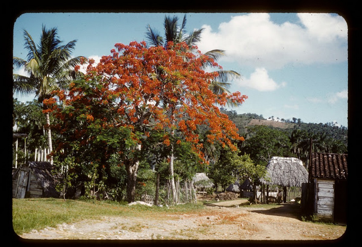
[[[122,157],[129,202],[135,199],[140,151],[151,131],[164,131],[163,143],[170,145],[177,129],[201,158],[198,125],[209,128],[206,140],[210,143],[236,149],[232,141],[241,138],[218,106],[228,100],[241,104],[247,96],[240,92],[216,95],[208,85],[217,72],[202,68],[205,63],[220,68],[218,64],[186,43],[169,42],[171,46],[118,43],[111,55],[89,64],[87,75],[72,83],[69,93],[58,93],[66,104],[59,112],[59,119],[64,120],[60,128],[73,129],[74,141],[82,142],[83,148],[97,143],[108,155],[117,152]],[[77,119],[76,126],[67,125],[69,118]],[[61,148],[64,150],[64,143]]]

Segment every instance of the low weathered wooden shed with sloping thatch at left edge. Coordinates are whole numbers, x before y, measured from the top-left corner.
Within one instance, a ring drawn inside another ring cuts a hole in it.
[[[49,162],[28,162],[13,172],[13,198],[59,197],[55,186],[59,179],[52,174]]]

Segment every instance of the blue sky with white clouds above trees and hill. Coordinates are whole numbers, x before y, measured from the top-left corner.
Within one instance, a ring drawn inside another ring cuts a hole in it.
[[[58,28],[74,56],[99,59],[115,43],[163,34],[165,15],[184,13],[25,13],[14,22],[13,55],[26,58],[23,29],[37,42],[42,25]],[[188,32],[204,28],[199,50],[226,51],[218,63],[242,79],[231,91],[248,95],[237,113],[348,126],[348,26],[333,13],[186,13]],[[22,73],[21,71],[14,71]],[[34,96],[18,100],[32,100]]]

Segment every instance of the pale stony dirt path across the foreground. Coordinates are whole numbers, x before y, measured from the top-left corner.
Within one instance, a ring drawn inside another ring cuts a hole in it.
[[[235,203],[235,202],[233,202]],[[21,235],[25,239],[199,239],[324,240],[337,239],[346,226],[303,222],[298,205],[237,208],[210,205],[198,214],[150,217],[104,217],[99,221],[62,224]]]

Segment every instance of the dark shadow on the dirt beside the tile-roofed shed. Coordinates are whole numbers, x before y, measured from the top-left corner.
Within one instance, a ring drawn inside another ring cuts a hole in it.
[[[281,207],[278,208],[271,208],[267,210],[250,210],[254,213],[260,213],[260,214],[268,214],[268,215],[275,215],[275,216],[283,216],[283,217],[290,217],[295,219],[300,219],[300,204],[291,202],[291,203],[285,203],[281,204]]]

